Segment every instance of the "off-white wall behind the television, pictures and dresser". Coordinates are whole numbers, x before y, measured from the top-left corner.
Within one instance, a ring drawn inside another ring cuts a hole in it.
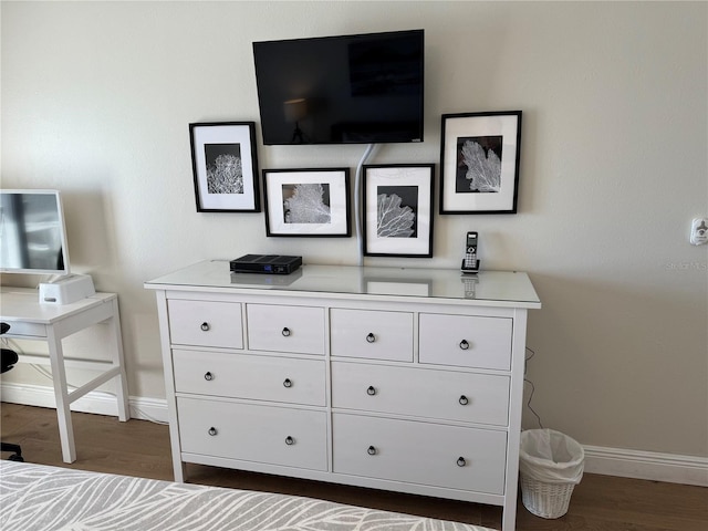
[[[522,110],[519,214],[437,216],[435,258],[366,263],[454,269],[478,230],[483,267],[528,271],[543,301],[528,343],[545,426],[708,456],[708,247],[688,243],[708,215],[708,4],[3,1],[1,15],[2,186],[64,192],[76,271],[119,294],[131,395],[164,397],[144,281],[247,252],[356,263],[353,238],[266,238],[262,214],[196,211],[188,124],[258,123],[251,42],[424,28],[425,143],[374,162],[439,163],[442,113]],[[362,153],[258,157],[354,168]]]

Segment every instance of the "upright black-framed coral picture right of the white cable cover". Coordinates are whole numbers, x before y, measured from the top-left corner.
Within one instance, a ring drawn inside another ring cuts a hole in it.
[[[433,256],[434,164],[364,166],[364,254]]]

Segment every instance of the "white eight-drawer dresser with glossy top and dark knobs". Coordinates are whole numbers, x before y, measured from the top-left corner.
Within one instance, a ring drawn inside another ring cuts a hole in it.
[[[155,290],[175,479],[197,462],[503,507],[514,528],[525,273],[199,262]]]

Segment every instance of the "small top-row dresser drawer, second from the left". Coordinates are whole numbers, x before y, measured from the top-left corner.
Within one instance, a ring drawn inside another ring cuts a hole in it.
[[[250,350],[324,354],[324,309],[248,304],[246,313]]]

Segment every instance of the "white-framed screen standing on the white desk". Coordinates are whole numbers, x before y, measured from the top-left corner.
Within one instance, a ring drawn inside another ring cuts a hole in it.
[[[0,190],[0,272],[70,273],[59,191]]]

